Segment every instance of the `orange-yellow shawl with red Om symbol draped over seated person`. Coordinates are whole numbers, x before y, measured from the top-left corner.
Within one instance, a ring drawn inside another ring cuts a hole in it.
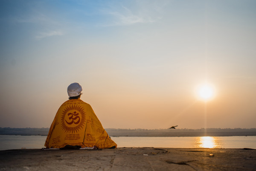
[[[90,104],[80,99],[68,100],[61,105],[44,144],[46,148],[63,148],[66,145],[80,145],[82,148],[117,147]]]

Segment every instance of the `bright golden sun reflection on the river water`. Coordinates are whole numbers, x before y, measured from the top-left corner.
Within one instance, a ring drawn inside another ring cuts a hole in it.
[[[214,136],[201,136],[196,139],[195,146],[198,148],[221,148],[218,139]]]

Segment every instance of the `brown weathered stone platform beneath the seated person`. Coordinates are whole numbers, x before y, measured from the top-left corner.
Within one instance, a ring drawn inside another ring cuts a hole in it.
[[[6,150],[0,151],[0,171],[256,171],[256,150]]]

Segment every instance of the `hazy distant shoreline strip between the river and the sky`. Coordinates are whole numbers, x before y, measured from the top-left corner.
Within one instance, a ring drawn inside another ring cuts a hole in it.
[[[119,137],[186,137],[186,136],[256,136],[256,128],[250,129],[105,129],[109,136]],[[49,128],[0,128],[0,135],[47,136]]]

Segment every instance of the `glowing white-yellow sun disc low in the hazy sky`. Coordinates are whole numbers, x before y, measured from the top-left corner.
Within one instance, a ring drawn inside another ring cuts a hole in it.
[[[197,87],[196,94],[200,100],[209,101],[215,96],[215,88],[211,84],[204,83]]]

